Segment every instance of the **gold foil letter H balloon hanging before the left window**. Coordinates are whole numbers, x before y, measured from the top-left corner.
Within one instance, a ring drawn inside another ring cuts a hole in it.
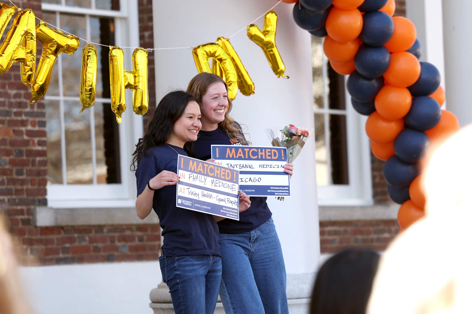
[[[136,48],[133,52],[133,71],[125,71],[123,49],[110,47],[110,94],[111,110],[121,123],[121,115],[126,109],[126,89],[133,90],[133,111],[144,115],[149,107],[147,50]]]

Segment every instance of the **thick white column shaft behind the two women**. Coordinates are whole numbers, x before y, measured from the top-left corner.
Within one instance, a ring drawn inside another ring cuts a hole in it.
[[[153,1],[155,48],[198,46],[230,36],[277,3],[275,0]],[[271,126],[295,124],[313,127],[311,35],[292,17],[293,4],[281,3],[276,43],[290,79],[277,78],[261,48],[243,31],[231,44],[251,75],[255,94],[238,93],[232,116],[247,124],[253,145],[270,146],[264,132]],[[256,24],[262,28],[263,18]],[[156,89],[158,100],[172,88],[186,89],[198,74],[190,49],[157,50]],[[315,182],[314,139],[295,161],[292,197],[284,202],[268,201],[282,243],[287,273],[312,273],[320,255],[318,206]]]

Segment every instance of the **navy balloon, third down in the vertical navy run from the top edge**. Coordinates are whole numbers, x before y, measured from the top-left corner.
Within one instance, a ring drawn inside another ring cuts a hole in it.
[[[362,44],[354,57],[354,65],[362,76],[380,77],[390,65],[390,51],[385,46],[371,47]]]

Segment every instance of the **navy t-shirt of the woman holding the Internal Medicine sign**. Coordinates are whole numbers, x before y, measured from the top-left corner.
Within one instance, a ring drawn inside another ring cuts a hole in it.
[[[230,138],[220,127],[213,131],[200,131],[198,139],[194,141],[194,155],[201,160],[210,159],[211,145],[242,144],[237,139]],[[272,217],[272,213],[266,203],[266,197],[252,196],[250,198],[251,207],[239,213],[239,221],[223,219],[218,222],[219,233],[236,234],[253,231]]]

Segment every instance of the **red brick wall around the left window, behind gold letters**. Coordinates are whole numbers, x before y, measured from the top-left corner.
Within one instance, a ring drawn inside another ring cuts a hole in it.
[[[15,2],[20,8],[33,9],[41,17],[41,0]],[[152,48],[152,1],[139,0],[139,5],[141,45]],[[5,33],[8,29],[9,26]],[[37,54],[41,55],[40,42]],[[154,56],[150,53],[151,107],[155,107],[154,82]],[[0,75],[0,208],[10,231],[22,244],[23,263],[158,259],[159,225],[34,227],[34,207],[47,205],[47,134],[44,102],[29,104],[30,98],[29,88],[20,81],[19,64],[15,63]]]

